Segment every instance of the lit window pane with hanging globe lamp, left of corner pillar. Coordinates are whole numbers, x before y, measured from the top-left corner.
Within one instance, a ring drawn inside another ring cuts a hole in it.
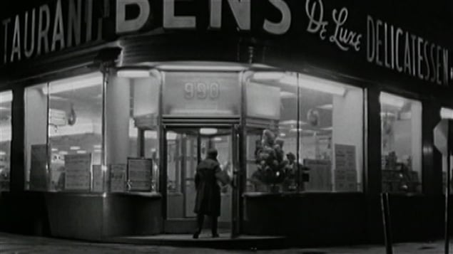
[[[103,75],[92,73],[55,80],[49,95],[50,189],[99,189],[102,144]]]

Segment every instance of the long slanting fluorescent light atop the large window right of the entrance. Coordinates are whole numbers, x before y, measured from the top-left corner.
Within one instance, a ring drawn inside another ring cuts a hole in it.
[[[321,78],[315,78],[303,74],[299,74],[299,77],[300,80],[297,80],[296,76],[285,75],[283,78],[280,79],[280,83],[294,86],[299,85],[300,88],[316,90],[319,92],[327,92],[332,95],[340,96],[345,95],[346,89],[343,88],[340,83],[335,83],[330,80],[324,80]]]

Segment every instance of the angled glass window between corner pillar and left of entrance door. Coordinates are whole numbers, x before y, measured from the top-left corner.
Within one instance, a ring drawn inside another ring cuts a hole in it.
[[[157,191],[158,109],[161,79],[157,72],[122,69],[106,86],[106,165],[110,191]]]

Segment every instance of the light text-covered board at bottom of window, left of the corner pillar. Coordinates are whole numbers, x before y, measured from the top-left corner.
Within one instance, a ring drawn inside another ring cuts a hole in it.
[[[64,156],[64,189],[89,191],[91,189],[91,154]]]

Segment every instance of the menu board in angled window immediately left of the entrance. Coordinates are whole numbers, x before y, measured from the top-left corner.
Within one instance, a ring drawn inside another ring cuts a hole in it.
[[[129,190],[151,191],[152,170],[152,159],[128,158]]]

